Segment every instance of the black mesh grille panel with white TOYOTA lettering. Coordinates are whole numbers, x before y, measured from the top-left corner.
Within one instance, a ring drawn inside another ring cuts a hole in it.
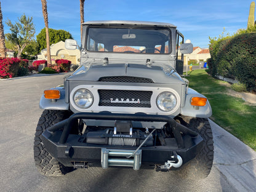
[[[121,106],[151,108],[152,91],[145,90],[98,90],[98,106]],[[112,100],[112,102],[111,102]]]

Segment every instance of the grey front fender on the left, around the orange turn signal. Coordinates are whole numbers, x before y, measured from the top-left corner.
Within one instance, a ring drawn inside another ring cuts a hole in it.
[[[63,89],[63,87],[56,87],[54,89],[60,90],[60,98],[52,100],[42,95],[39,107],[42,110],[68,110],[70,105],[65,102],[65,89]]]

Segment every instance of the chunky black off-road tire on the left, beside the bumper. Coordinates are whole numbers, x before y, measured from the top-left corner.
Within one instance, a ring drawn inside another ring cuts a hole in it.
[[[70,167],[63,166],[44,148],[40,135],[48,127],[53,126],[70,116],[69,111],[44,110],[36,127],[34,136],[34,161],[42,175],[61,176],[70,172]]]

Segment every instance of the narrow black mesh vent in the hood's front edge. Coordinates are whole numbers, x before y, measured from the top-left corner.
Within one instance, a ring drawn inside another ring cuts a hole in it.
[[[113,77],[102,77],[98,81],[103,82],[137,82],[137,83],[154,83],[152,79],[137,78],[130,76],[113,76]]]

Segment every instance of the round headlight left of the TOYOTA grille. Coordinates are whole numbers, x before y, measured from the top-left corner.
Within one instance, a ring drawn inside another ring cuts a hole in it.
[[[87,89],[78,89],[74,92],[74,103],[80,108],[89,108],[94,102],[92,93]]]

